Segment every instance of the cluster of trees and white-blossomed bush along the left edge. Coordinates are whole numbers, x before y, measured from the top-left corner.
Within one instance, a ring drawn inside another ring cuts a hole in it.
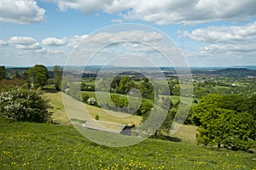
[[[53,69],[55,89],[61,89],[62,69]],[[48,84],[49,71],[44,65],[34,65],[22,75],[7,77],[4,66],[0,66],[0,116],[19,122],[51,122],[49,100],[42,97],[40,88]]]

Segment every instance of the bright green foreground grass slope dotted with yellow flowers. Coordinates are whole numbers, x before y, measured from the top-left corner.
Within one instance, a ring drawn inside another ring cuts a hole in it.
[[[255,154],[158,139],[109,148],[72,126],[0,118],[2,169],[253,169]]]

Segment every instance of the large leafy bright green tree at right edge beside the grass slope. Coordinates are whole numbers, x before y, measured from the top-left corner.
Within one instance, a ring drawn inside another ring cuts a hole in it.
[[[222,144],[233,150],[256,147],[256,122],[245,102],[247,99],[238,95],[210,94],[203,97],[192,109],[193,120],[200,125],[197,143],[216,144],[218,147]]]

